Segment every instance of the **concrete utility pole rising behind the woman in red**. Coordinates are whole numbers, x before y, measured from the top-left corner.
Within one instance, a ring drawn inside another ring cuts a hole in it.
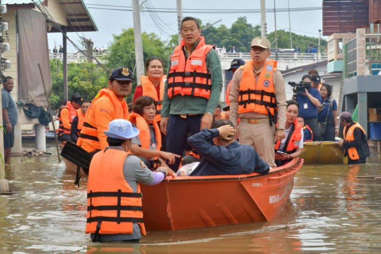
[[[139,0],[132,0],[132,12],[133,12],[133,18],[134,18],[136,81],[138,84],[140,84],[140,76],[144,75],[144,58],[143,58],[142,29],[140,27]],[[134,68],[131,68],[131,69],[134,69]]]

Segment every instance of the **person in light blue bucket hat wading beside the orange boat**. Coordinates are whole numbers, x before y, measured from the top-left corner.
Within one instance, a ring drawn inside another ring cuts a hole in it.
[[[93,242],[139,242],[146,234],[139,182],[158,184],[168,171],[160,167],[152,172],[127,152],[131,139],[139,135],[130,121],[112,120],[104,133],[109,147],[97,152],[90,163],[86,233]]]

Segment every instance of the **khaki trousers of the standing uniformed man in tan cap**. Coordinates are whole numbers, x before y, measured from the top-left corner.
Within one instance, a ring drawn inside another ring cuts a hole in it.
[[[251,145],[270,167],[275,168],[275,124],[270,126],[269,121],[256,124],[240,121],[238,129],[239,143]]]

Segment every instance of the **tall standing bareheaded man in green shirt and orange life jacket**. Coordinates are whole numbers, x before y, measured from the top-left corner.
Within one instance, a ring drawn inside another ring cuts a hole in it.
[[[183,153],[189,132],[210,129],[222,89],[218,53],[205,44],[196,18],[182,19],[181,37],[169,62],[160,123],[167,135],[167,151],[176,154]],[[180,160],[170,166],[175,172]]]

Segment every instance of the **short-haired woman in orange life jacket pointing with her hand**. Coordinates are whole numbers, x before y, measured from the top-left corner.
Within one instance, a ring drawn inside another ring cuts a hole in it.
[[[141,96],[135,101],[132,110],[133,113],[130,114],[129,120],[140,131],[141,146],[132,144],[131,153],[139,156],[150,169],[154,169],[155,164],[168,167],[164,160],[173,164],[175,158],[179,158],[180,155],[160,150],[162,146],[160,128],[154,120],[156,115],[155,100],[149,96]]]

